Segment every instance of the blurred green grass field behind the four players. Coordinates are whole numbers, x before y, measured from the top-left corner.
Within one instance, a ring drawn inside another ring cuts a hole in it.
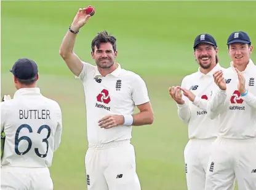
[[[185,190],[187,129],[178,119],[168,88],[180,85],[185,75],[198,69],[193,56],[198,34],[208,32],[215,37],[223,67],[230,62],[226,40],[231,32],[246,31],[254,44],[256,2],[2,1],[1,96],[13,96],[9,69],[18,58],[27,57],[38,63],[42,94],[62,107],[62,144],[50,167],[56,190],[86,189],[84,92],[58,55],[58,48],[79,7],[89,4],[96,7],[96,13],[81,29],[74,51],[94,64],[91,40],[106,29],[118,39],[117,61],[142,75],[148,85],[154,124],[134,127],[132,137],[142,189]]]

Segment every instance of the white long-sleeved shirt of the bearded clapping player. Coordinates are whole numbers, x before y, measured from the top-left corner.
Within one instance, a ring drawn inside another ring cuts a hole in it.
[[[213,74],[215,70],[222,67],[217,64],[208,74],[194,72],[187,75],[182,80],[182,88],[190,90],[196,99],[191,102],[187,97],[183,96],[185,104],[177,104],[178,116],[186,124],[188,124],[189,139],[209,139],[217,137],[218,121],[211,120],[207,115],[207,102],[209,102],[212,91],[217,88],[214,83]]]

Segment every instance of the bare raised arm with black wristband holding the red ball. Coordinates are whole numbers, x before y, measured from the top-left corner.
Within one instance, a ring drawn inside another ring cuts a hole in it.
[[[79,29],[87,23],[89,18],[90,15],[86,14],[86,8],[79,9],[78,13],[76,13],[76,16],[74,17],[70,29],[66,32],[66,35],[62,40],[62,44],[60,45],[60,56],[62,56],[68,68],[76,76],[81,73],[83,64],[81,59],[79,59],[79,57],[73,52],[74,44],[76,42],[76,36]]]

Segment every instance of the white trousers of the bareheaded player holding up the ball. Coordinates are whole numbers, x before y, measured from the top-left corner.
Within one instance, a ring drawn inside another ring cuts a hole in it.
[[[130,140],[89,145],[85,158],[88,190],[140,190]]]

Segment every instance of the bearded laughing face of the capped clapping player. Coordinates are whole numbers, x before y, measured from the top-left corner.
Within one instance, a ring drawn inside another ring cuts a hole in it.
[[[217,53],[218,48],[210,44],[202,43],[194,49],[194,57],[202,69],[209,69],[215,66]]]

